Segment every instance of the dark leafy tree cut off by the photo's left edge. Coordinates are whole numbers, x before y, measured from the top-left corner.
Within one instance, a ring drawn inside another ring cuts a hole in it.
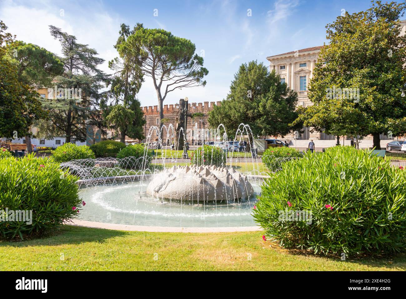
[[[43,117],[39,94],[19,81],[17,65],[7,56],[14,37],[0,20],[0,136],[15,138],[29,134],[33,120]]]

